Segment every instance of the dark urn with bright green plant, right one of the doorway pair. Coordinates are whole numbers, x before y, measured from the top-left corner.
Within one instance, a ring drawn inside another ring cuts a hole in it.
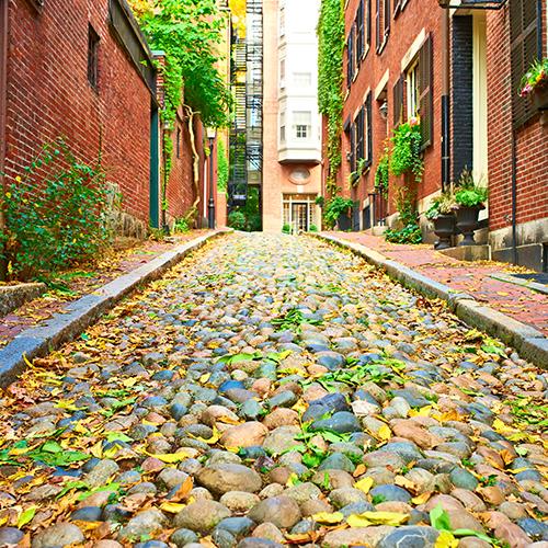
[[[464,170],[455,192],[457,228],[464,236],[459,246],[476,246],[473,232],[478,228],[479,213],[486,208],[483,203],[487,195],[487,189],[477,185],[472,174],[468,170]]]

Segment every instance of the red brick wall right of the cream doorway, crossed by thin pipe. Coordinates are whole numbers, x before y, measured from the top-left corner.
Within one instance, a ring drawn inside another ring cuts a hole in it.
[[[532,0],[533,1],[533,0]],[[546,3],[543,13],[546,56]],[[509,9],[488,13],[489,228],[512,221],[512,84]],[[516,132],[517,224],[548,217],[548,126],[534,116]]]

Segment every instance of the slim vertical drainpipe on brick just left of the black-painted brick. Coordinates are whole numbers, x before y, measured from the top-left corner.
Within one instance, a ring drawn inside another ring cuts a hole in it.
[[[442,10],[442,191],[450,184],[450,16]]]

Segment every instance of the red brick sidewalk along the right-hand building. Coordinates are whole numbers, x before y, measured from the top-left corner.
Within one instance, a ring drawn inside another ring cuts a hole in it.
[[[476,300],[548,335],[548,297],[527,287],[490,277],[490,274],[523,272],[523,269],[493,261],[473,263],[458,261],[435,251],[432,246],[389,243],[383,237],[365,232],[329,233],[374,249],[436,282],[466,292],[472,295]]]

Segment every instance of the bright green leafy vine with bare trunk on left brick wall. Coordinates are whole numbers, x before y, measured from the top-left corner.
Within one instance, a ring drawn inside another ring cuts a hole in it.
[[[218,46],[227,21],[215,0],[129,0],[129,3],[151,48],[162,50],[165,55],[165,61],[159,68],[163,76],[165,98],[160,116],[167,132],[173,130],[184,95],[183,111],[191,136],[196,196],[186,216],[191,219],[197,213],[199,201],[195,116],[199,116],[206,126],[222,127],[229,123],[230,90],[217,68]],[[162,209],[165,210],[165,189],[173,153],[170,138],[163,139],[162,152]]]

